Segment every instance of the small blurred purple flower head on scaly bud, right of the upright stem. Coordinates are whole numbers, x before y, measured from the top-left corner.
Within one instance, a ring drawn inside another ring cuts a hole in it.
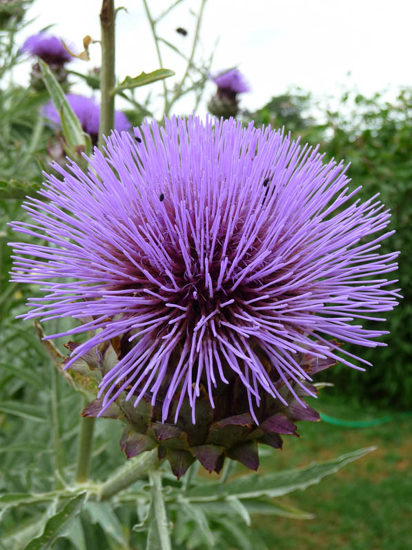
[[[236,69],[226,70],[212,78],[217,91],[208,102],[208,110],[217,117],[235,117],[239,112],[239,93],[251,91],[242,73]]]

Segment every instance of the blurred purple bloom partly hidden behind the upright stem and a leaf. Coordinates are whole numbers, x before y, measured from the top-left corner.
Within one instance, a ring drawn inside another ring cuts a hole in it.
[[[68,93],[66,98],[70,104],[70,107],[75,112],[75,115],[80,121],[84,131],[90,135],[93,144],[97,144],[97,138],[99,137],[99,122],[100,122],[100,106],[95,103],[95,100],[91,97],[84,97],[84,95],[75,95]],[[48,102],[43,107],[43,115],[51,122],[60,125],[60,115],[57,113],[57,109]],[[115,130],[128,131],[131,125],[127,120],[127,117],[121,111],[115,111]]]

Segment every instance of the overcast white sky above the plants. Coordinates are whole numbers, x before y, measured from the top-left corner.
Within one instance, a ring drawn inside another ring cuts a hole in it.
[[[170,1],[148,0],[158,14]],[[188,54],[200,0],[186,0],[159,25],[159,34]],[[99,39],[101,0],[36,0],[29,17],[37,17],[21,34],[21,41],[40,28],[56,23],[52,33],[71,41],[78,50],[85,35]],[[117,0],[124,6],[117,17],[117,75],[135,76],[142,70],[159,67],[153,37],[141,0]],[[208,0],[201,29],[199,53],[210,53],[219,37],[213,71],[237,65],[253,91],[242,105],[263,106],[272,95],[289,86],[301,86],[317,96],[338,96],[343,86],[373,93],[412,84],[411,75],[412,3],[406,0]],[[184,38],[177,27],[188,30]],[[182,59],[168,48],[164,67],[182,76]],[[99,44],[91,46],[91,60],[75,61],[79,72],[99,65]],[[348,76],[349,71],[351,76]],[[28,79],[28,66],[17,68],[14,77]],[[72,91],[85,93],[81,86]],[[151,87],[161,91],[161,84]],[[209,84],[205,98],[215,87]],[[148,93],[141,88],[140,97]],[[192,103],[185,99],[175,112],[189,113]],[[203,106],[200,113],[205,112]]]

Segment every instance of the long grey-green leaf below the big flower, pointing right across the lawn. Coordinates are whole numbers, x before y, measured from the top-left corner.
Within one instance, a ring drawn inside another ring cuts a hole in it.
[[[240,499],[263,496],[279,497],[297,489],[306,489],[306,487],[320,482],[322,477],[337,472],[346,464],[364,457],[371,451],[375,451],[375,447],[362,448],[325,462],[314,462],[306,468],[295,468],[266,475],[244,475],[230,484],[199,485],[189,489],[186,497],[192,502],[218,500],[226,495],[233,495]]]

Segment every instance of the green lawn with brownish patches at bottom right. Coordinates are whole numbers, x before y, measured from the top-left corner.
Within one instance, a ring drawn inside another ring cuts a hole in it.
[[[366,446],[377,450],[320,484],[282,498],[315,519],[255,516],[253,528],[268,549],[412,549],[412,416],[335,404],[325,397],[315,406],[344,420],[391,414],[393,419],[369,428],[300,423],[302,438],[285,437],[283,451],[262,457],[262,471],[304,466]]]

